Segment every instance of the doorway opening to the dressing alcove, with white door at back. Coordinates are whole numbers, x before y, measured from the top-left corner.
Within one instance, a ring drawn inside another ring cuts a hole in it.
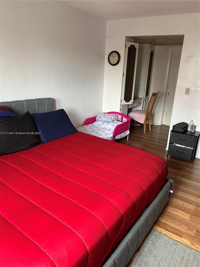
[[[143,97],[141,109],[145,110],[148,104],[146,90],[148,95],[160,91],[161,98],[159,103],[157,102],[159,108],[154,109],[156,115],[153,123],[170,126],[184,35],[128,37],[139,44],[140,59],[136,70],[136,94],[138,97]],[[154,49],[154,52],[153,57],[150,57],[149,50],[148,59],[145,59],[147,55],[142,54],[142,50],[147,46],[151,51]]]

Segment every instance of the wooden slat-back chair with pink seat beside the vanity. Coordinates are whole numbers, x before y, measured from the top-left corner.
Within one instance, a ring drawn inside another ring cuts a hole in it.
[[[158,93],[153,93],[151,95],[151,98],[149,99],[147,110],[134,110],[128,113],[128,117],[134,120],[134,127],[136,126],[136,122],[140,122],[144,124],[144,134],[146,134],[146,122],[149,121],[149,130],[151,131],[151,114],[153,110],[153,106],[155,104],[155,101],[158,97]]]

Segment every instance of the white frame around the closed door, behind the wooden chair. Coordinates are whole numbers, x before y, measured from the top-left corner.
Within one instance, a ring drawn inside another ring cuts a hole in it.
[[[165,104],[166,104],[167,93],[168,93],[169,75],[170,75],[170,70],[171,70],[173,51],[174,50],[182,51],[182,47],[183,45],[176,45],[176,46],[169,47],[168,63],[167,63],[167,70],[165,74],[165,83],[164,83],[164,88],[163,88],[163,97],[162,97],[162,102],[161,102],[161,110],[160,110],[160,117],[159,117],[158,125],[163,124],[163,117],[164,117],[164,110],[165,110]]]

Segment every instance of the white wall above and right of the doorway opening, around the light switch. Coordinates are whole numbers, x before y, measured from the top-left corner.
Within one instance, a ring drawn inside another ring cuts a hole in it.
[[[111,20],[107,23],[107,36],[184,34],[170,130],[178,122],[193,119],[196,131],[200,131],[199,28],[199,13]],[[186,87],[190,88],[189,95],[185,95]],[[200,157],[200,141],[196,155]]]

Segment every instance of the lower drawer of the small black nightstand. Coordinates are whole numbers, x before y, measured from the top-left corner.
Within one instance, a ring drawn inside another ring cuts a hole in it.
[[[168,148],[168,154],[169,155],[183,158],[183,159],[187,159],[187,160],[191,160],[192,153],[193,153],[193,149],[191,149],[191,148],[186,148],[186,147],[182,147],[182,146],[175,146],[173,144],[169,144],[169,148]]]

